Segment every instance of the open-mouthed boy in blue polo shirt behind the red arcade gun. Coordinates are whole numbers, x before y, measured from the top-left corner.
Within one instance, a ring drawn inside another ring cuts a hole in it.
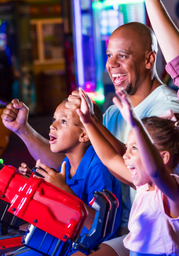
[[[49,134],[51,151],[61,152],[66,155],[61,166],[61,172],[55,172],[41,163],[40,160],[37,161],[37,167],[43,168],[46,172],[41,169],[36,171],[43,175],[44,180],[72,195],[78,196],[87,205],[93,198],[93,192],[101,191],[102,189],[108,189],[113,192],[119,201],[114,230],[110,236],[110,239],[115,238],[121,223],[121,184],[98,158],[86,131],[69,122],[65,114],[66,101],[62,102],[56,109]],[[103,116],[97,105],[94,105],[94,112],[98,120],[102,122]],[[77,121],[80,122],[76,111],[73,118],[78,119]],[[20,171],[23,172],[24,168],[21,167]],[[88,228],[88,225],[85,226]],[[85,227],[82,233],[87,233]],[[75,251],[72,251],[72,253],[75,253]]]

